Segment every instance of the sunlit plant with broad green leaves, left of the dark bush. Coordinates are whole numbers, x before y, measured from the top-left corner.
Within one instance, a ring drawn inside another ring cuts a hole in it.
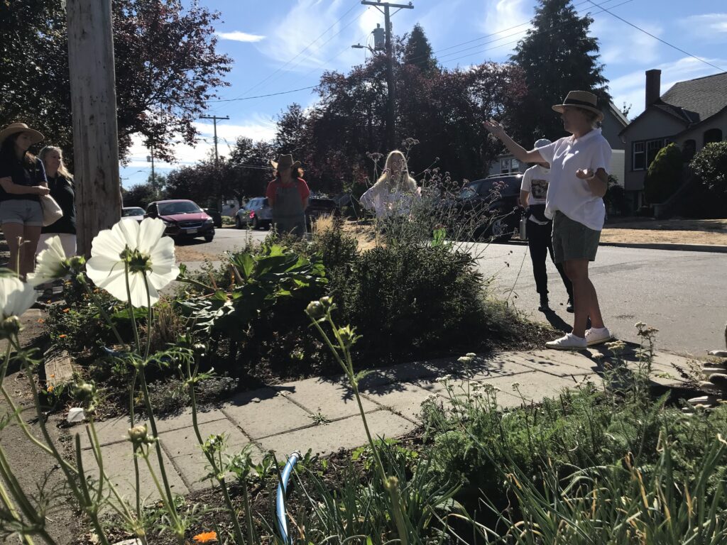
[[[240,336],[254,318],[273,307],[278,299],[291,297],[308,302],[326,283],[320,257],[302,257],[277,244],[263,245],[259,253],[231,254],[228,266],[233,282],[227,291],[207,286],[209,296],[179,302],[185,315],[195,319],[198,331]]]

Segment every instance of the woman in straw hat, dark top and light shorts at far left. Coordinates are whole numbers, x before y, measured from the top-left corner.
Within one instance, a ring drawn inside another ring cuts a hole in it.
[[[0,131],[0,224],[10,248],[10,267],[20,278],[33,272],[43,225],[40,196],[49,193],[43,163],[28,152],[43,134],[24,123]]]

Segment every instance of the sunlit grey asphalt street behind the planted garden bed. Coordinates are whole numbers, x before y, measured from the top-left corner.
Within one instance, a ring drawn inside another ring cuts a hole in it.
[[[218,229],[212,243],[194,249],[211,259],[244,246],[246,237],[262,241],[268,231]],[[528,248],[524,244],[467,245],[478,267],[491,279],[490,288],[534,320],[567,328],[572,315],[558,272],[548,262],[550,306],[554,314],[538,312],[538,294]],[[200,262],[187,262],[189,267]],[[678,250],[646,250],[601,246],[590,276],[598,291],[606,325],[620,339],[638,341],[634,324],[659,329],[657,347],[680,354],[704,355],[724,349],[727,322],[727,254]]]

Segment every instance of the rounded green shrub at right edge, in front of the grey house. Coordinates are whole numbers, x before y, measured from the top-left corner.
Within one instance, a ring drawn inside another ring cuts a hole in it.
[[[689,163],[699,178],[699,208],[710,217],[725,217],[727,210],[727,142],[712,142]],[[706,209],[706,210],[705,210]]]

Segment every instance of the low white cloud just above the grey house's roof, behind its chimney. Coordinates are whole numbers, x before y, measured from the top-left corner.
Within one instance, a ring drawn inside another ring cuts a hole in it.
[[[706,58],[703,60],[711,62],[714,65],[727,65],[727,60]],[[664,94],[670,87],[679,81],[688,79],[701,78],[716,73],[716,69],[705,65],[693,57],[683,57],[672,62],[663,62],[662,64],[650,66],[649,68],[658,68],[662,70],[662,86],[659,94]],[[646,86],[646,75],[644,70],[636,70],[631,73],[624,74],[619,78],[612,79],[608,84],[611,96],[614,98],[614,104],[619,108],[624,102],[631,104],[630,118],[638,116],[644,110],[644,94]]]

